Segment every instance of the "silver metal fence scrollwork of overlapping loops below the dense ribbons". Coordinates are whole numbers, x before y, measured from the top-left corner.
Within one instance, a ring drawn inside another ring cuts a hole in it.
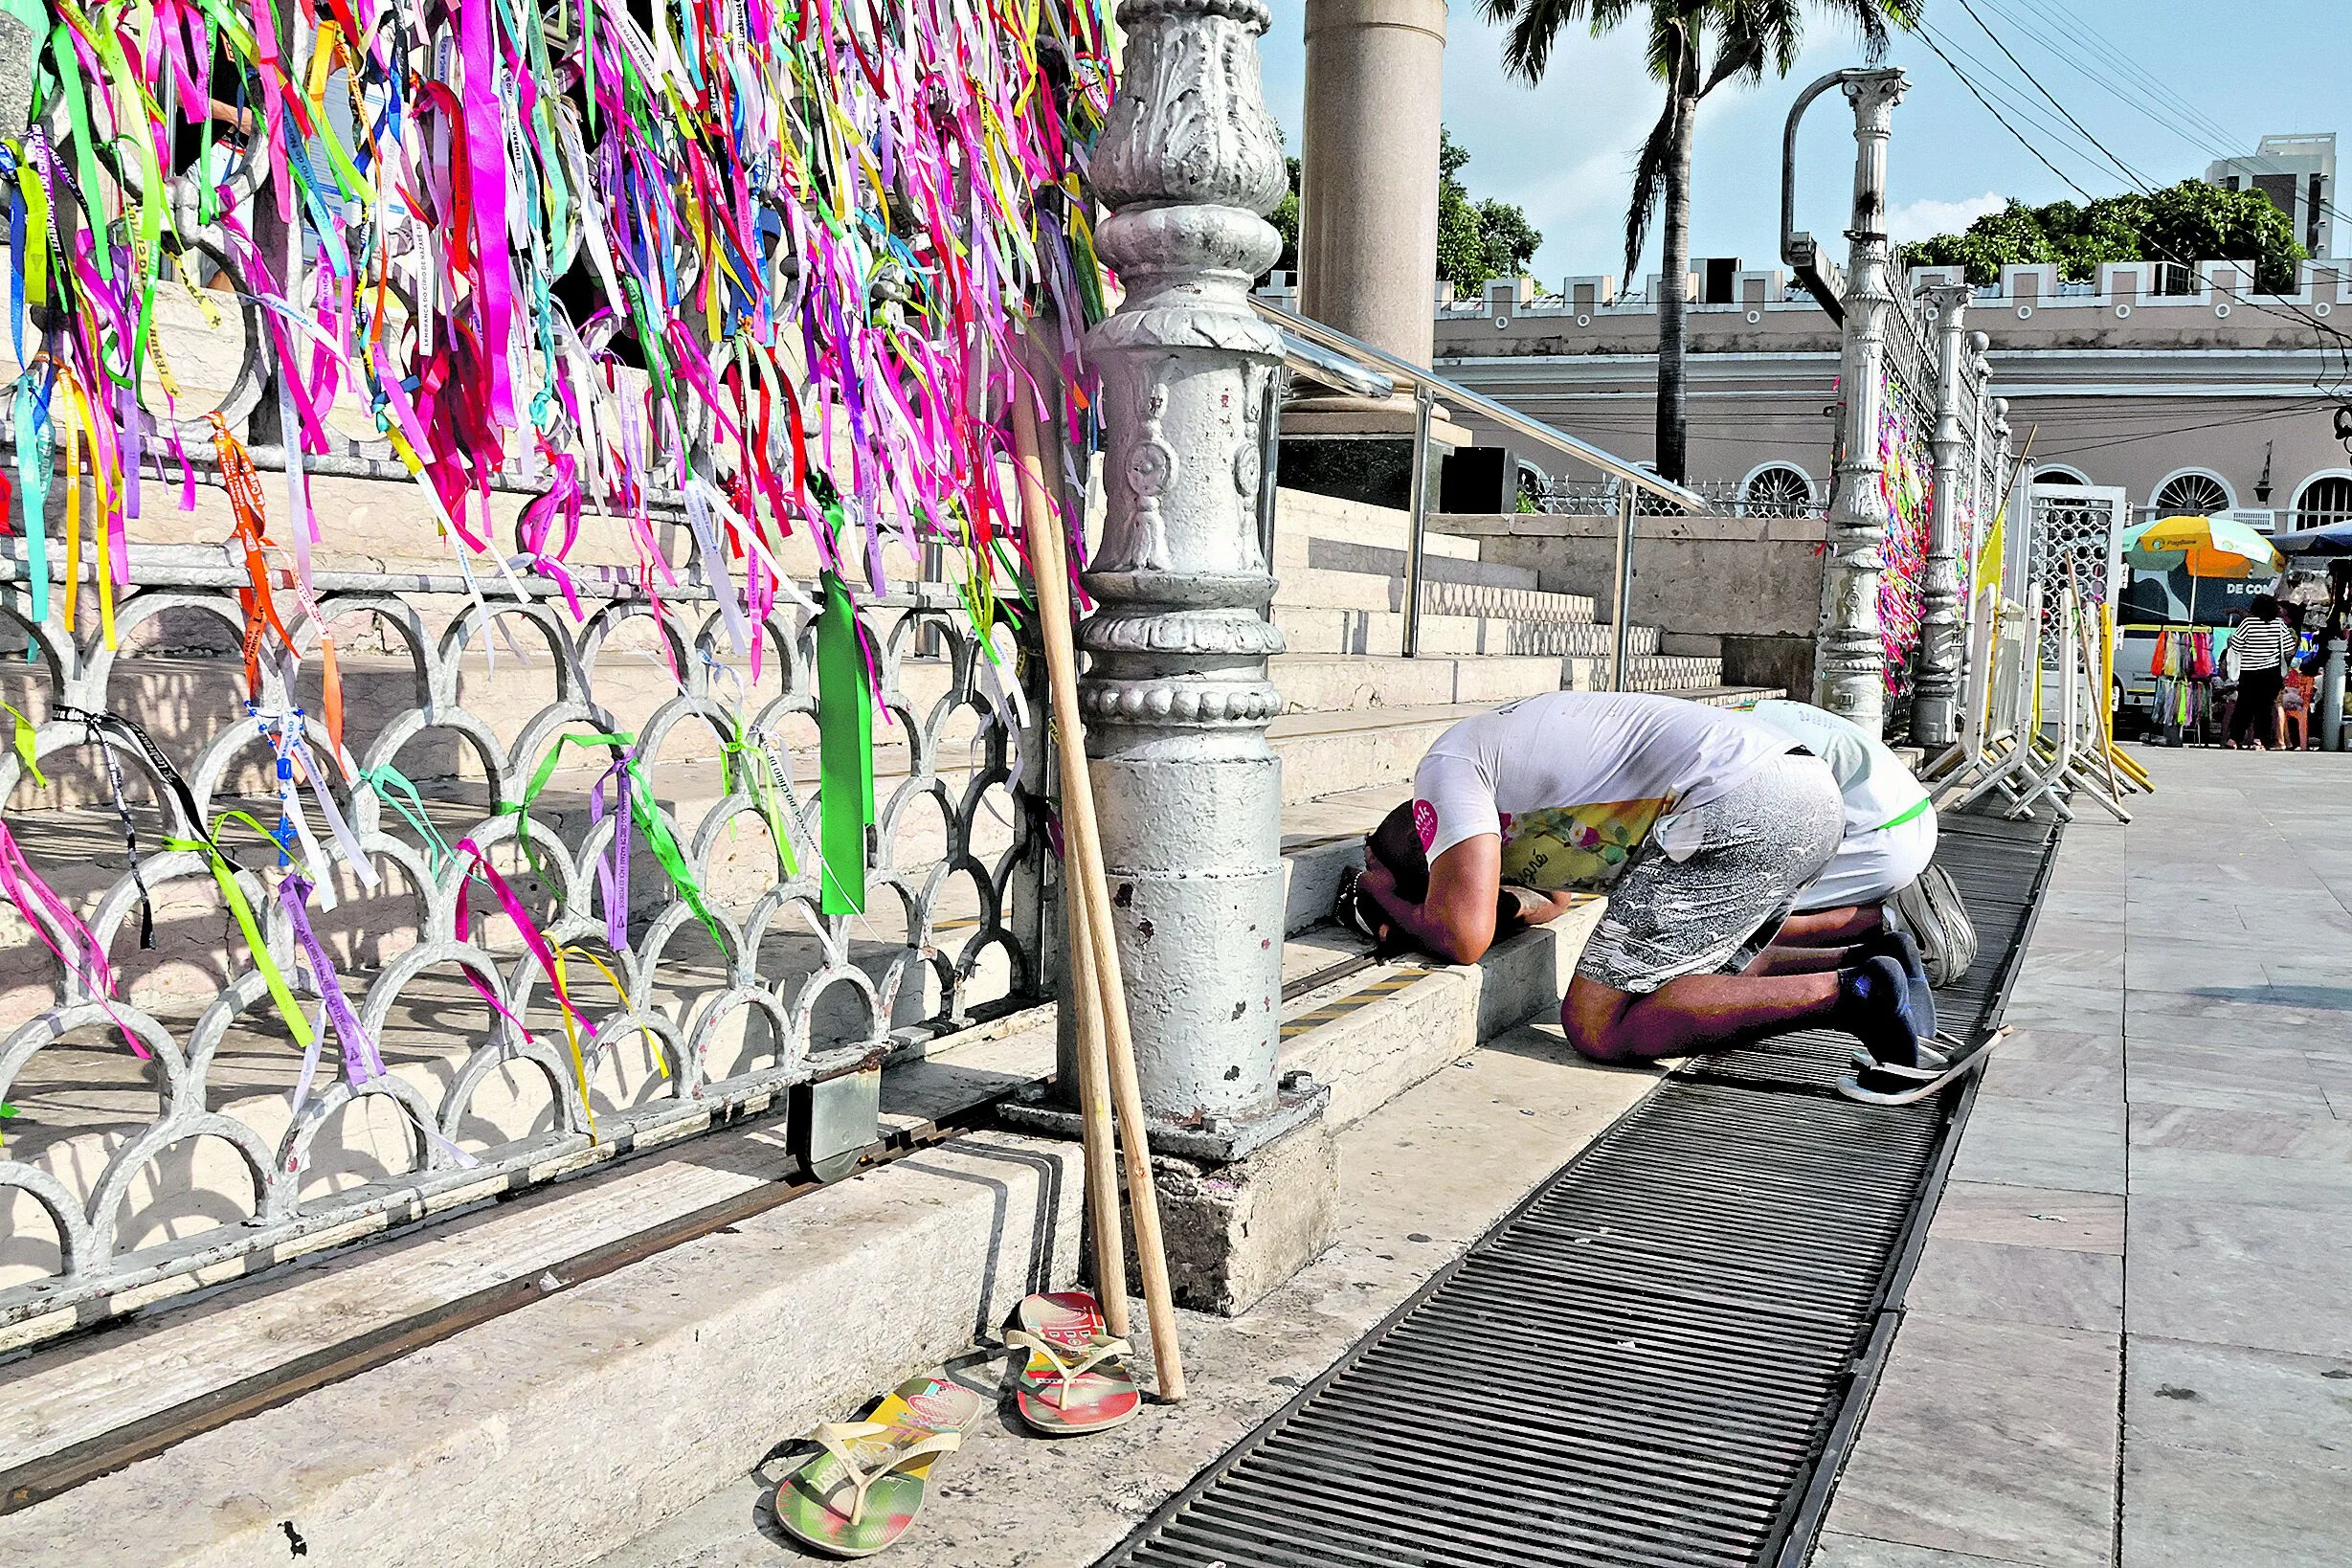
[[[858,609],[884,710],[870,896],[866,914],[823,914],[802,607],[757,625],[755,677],[701,588],[663,590],[656,616],[623,574],[581,569],[574,621],[543,576],[485,602],[456,574],[322,567],[343,651],[334,755],[315,661],[292,691],[263,663],[242,701],[247,576],[219,550],[132,552],[120,651],[68,628],[61,592],[33,623],[21,562],[0,576],[0,628],[33,651],[0,677],[28,726],[21,755],[0,750],[0,804],[115,978],[113,999],[94,994],[0,903],[0,1326],[677,1138],[1040,994],[1042,736],[1011,639],[983,649],[950,585]],[[292,630],[315,649],[318,625]],[[82,715],[139,722],[153,755]],[[278,752],[296,750],[273,733],[334,757],[322,788],[376,879],[336,863],[310,903],[325,973],[282,896],[299,837],[278,870],[261,835],[287,825]],[[633,785],[614,771],[623,745]],[[207,835],[228,851],[219,875]],[[480,882],[463,912],[475,849],[557,969]],[[616,872],[619,910],[600,886]],[[341,987],[381,1070],[332,1027],[306,1070],[228,886],[296,1011],[332,1025],[318,999]]]

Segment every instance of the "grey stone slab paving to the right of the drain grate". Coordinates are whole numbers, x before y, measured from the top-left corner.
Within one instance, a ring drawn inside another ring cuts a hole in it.
[[[2067,830],[1813,1568],[2352,1561],[2352,769]]]

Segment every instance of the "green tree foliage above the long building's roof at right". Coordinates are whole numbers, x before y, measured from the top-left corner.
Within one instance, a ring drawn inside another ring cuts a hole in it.
[[[2107,195],[2086,207],[2027,207],[2016,197],[1957,235],[1905,244],[1903,266],[1959,266],[1973,284],[1997,284],[2004,266],[2056,263],[2070,282],[2098,277],[2103,261],[2251,261],[2256,287],[2288,294],[2303,247],[2296,228],[2260,190],[2223,190],[2197,179],[2140,195]],[[2171,287],[2192,287],[2176,270]]]

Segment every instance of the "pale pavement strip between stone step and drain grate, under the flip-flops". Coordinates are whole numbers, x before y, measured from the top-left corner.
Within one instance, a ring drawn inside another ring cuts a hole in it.
[[[1115,1432],[1058,1441],[993,1410],[964,1450],[938,1465],[934,1497],[891,1559],[938,1568],[1094,1563],[1606,1131],[1653,1079],[1578,1060],[1557,1025],[1510,1030],[1442,1067],[1341,1133],[1338,1246],[1240,1319],[1181,1314],[1185,1403],[1148,1406]],[[1138,1328],[1141,1319],[1136,1302]],[[1004,1366],[1002,1356],[969,1356],[953,1371],[995,1396]],[[807,1453],[779,1443],[757,1472],[595,1568],[828,1561],[793,1544],[769,1514],[776,1481]]]

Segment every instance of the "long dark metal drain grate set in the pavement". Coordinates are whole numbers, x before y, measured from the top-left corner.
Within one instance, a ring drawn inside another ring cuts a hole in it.
[[[1987,971],[1955,1016],[1997,1016],[2049,853],[2046,830],[1947,837],[1983,884],[1964,889]],[[1731,1568],[1802,1547],[1955,1105],[1851,1105],[1816,1086],[1849,1037],[1778,1044],[1665,1079],[1101,1568]]]

